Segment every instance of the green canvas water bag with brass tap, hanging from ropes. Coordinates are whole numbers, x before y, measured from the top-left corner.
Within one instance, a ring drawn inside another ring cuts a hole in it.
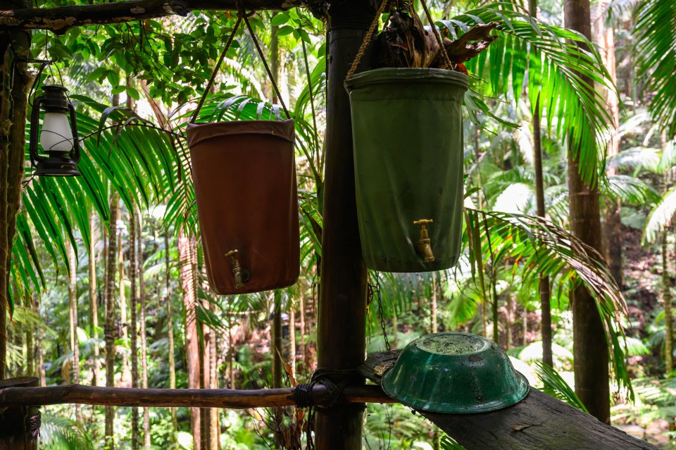
[[[463,228],[467,75],[382,68],[359,73],[345,86],[366,265],[384,272],[452,267]]]

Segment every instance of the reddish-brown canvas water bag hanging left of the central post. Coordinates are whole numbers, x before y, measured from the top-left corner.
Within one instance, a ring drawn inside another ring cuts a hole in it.
[[[189,123],[187,137],[211,288],[228,295],[293,285],[300,267],[294,121]],[[241,287],[235,259],[248,272]]]

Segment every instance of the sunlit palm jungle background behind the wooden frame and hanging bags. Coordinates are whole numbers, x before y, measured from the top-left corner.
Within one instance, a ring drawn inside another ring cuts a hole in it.
[[[375,296],[368,307],[368,352],[430,332],[474,332],[506,349],[532,385],[584,408],[573,392],[569,291],[593,268],[599,275],[583,281],[595,292],[621,292],[599,307],[613,368],[611,422],[674,448],[676,4],[592,2],[587,42],[565,28],[562,1],[428,3],[449,38],[475,23],[501,24],[489,50],[466,63],[463,258],[439,273],[370,273],[382,303]],[[33,56],[56,59],[38,84],[62,82],[77,105],[83,176],[25,172],[6,377],[104,386],[108,356],[118,387],[258,389],[305,382],[316,368],[329,25],[302,8],[251,17],[296,120],[301,276],[280,291],[216,296],[184,127],[234,20],[194,11],[32,33]],[[589,50],[572,51],[570,42]],[[596,96],[580,74],[596,82]],[[200,119],[279,114],[251,35],[241,30]],[[580,174],[599,187],[608,268],[600,255],[583,258],[566,243],[567,151],[575,139]],[[552,368],[542,363],[543,299],[551,304]],[[115,338],[113,354],[105,336]],[[266,449],[305,439],[293,408],[115,408],[111,418],[119,449]],[[44,449],[110,445],[103,407],[48,406],[43,424]],[[365,449],[455,445],[404,406],[368,405]]]

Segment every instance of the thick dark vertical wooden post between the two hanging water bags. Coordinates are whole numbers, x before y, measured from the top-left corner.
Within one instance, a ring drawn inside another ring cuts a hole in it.
[[[374,3],[337,1],[329,11],[319,368],[355,368],[365,353],[366,267],[357,225],[350,104],[343,82],[375,15]],[[318,411],[317,448],[361,450],[362,421],[363,405]]]

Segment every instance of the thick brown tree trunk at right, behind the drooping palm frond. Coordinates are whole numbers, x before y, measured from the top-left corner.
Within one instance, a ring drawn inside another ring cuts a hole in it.
[[[592,38],[589,0],[565,0],[565,26],[576,30],[587,39]],[[583,77],[584,78],[584,77]],[[594,96],[594,82],[584,78]],[[568,191],[570,196],[570,228],[585,244],[601,252],[601,215],[599,211],[598,184],[589,187],[580,177],[578,151],[572,145],[568,149]],[[591,151],[592,149],[586,149]],[[572,334],[575,368],[575,392],[589,413],[610,423],[610,387],[608,385],[608,344],[596,302],[580,285],[571,292]]]

